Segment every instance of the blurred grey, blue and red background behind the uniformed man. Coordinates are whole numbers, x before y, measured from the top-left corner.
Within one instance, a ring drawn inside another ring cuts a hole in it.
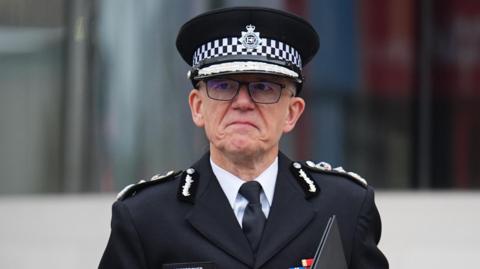
[[[235,5],[296,13],[320,35],[282,150],[378,190],[392,268],[475,267],[476,0],[0,0],[0,267],[96,267],[115,193],[205,152],[175,38]]]

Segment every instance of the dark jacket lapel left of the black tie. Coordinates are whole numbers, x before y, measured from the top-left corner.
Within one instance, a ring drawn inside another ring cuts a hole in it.
[[[209,154],[193,168],[199,173],[199,188],[187,221],[214,245],[252,267],[252,250],[213,174]]]

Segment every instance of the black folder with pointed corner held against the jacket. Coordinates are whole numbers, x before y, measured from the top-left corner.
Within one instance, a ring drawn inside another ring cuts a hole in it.
[[[328,220],[311,269],[348,269],[335,215]]]

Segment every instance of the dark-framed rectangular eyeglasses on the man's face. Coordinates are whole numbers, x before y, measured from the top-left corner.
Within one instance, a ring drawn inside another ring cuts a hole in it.
[[[206,81],[207,95],[219,101],[230,101],[237,96],[242,84],[247,85],[248,94],[253,102],[274,104],[280,100],[285,85],[271,81],[237,81],[227,78],[214,78]],[[293,93],[292,93],[293,96]]]

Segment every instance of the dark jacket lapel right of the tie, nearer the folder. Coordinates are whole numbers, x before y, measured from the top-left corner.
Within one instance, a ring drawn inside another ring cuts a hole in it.
[[[275,194],[254,268],[259,268],[282,250],[315,216],[314,208],[288,169],[290,163],[285,155],[279,154]]]

